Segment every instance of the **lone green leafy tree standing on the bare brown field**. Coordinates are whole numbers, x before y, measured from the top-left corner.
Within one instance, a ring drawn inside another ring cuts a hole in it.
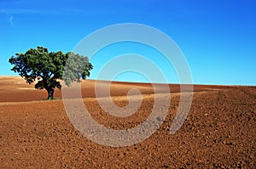
[[[16,54],[9,59],[9,63],[14,65],[11,70],[25,78],[27,83],[38,80],[35,88],[47,90],[48,99],[53,99],[55,87],[61,89],[61,83],[57,80],[63,80],[70,86],[72,82],[80,82],[81,78],[90,76],[93,69],[89,59],[83,55],[72,52],[63,54],[61,51],[49,53],[44,47]]]

